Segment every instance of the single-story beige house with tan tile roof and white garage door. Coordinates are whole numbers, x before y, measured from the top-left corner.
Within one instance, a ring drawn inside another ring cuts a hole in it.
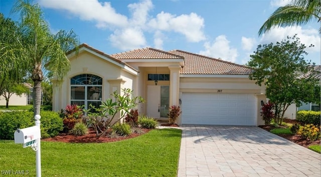
[[[114,91],[130,88],[145,99],[140,114],[156,119],[168,119],[169,106],[181,105],[179,124],[264,124],[265,87],[248,79],[252,70],[246,66],[180,50],[143,48],[107,55],[87,44],[68,58],[71,70],[54,89],[53,110],[67,104],[98,106]]]

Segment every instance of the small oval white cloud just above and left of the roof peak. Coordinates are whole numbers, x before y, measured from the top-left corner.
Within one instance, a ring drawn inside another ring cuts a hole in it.
[[[139,28],[116,30],[109,36],[111,45],[121,50],[133,50],[146,46],[143,32]]]

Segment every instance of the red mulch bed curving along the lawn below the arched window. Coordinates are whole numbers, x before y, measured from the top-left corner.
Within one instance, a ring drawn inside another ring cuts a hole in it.
[[[150,131],[151,129],[146,129],[146,128],[142,128],[141,129],[143,131],[142,134],[147,133],[148,131]],[[106,133],[108,134],[108,133]],[[111,138],[108,137],[108,135],[103,135],[101,137],[96,137],[96,133],[93,129],[89,129],[88,133],[83,135],[83,136],[75,136],[72,134],[66,134],[66,133],[61,133],[56,137],[52,137],[52,138],[46,138],[46,139],[42,139],[44,141],[59,141],[59,142],[81,142],[81,143],[87,143],[87,142],[113,142],[113,141],[120,141],[120,140],[124,140],[124,139],[129,139],[129,138],[133,138],[142,134],[137,134],[137,133],[131,133],[128,136],[119,136],[118,138]]]

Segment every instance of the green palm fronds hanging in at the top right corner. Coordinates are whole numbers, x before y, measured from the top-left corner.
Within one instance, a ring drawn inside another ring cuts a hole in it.
[[[261,36],[275,26],[301,26],[314,20],[321,22],[321,0],[292,0],[291,4],[274,11],[264,22],[258,34]],[[321,33],[321,28],[319,28],[319,33]]]

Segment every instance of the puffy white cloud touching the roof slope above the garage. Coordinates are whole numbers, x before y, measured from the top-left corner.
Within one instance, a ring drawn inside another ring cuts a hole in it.
[[[229,43],[230,41],[226,39],[225,35],[220,35],[216,37],[212,44],[210,42],[206,42],[204,44],[205,51],[200,51],[200,54],[235,62],[238,56],[237,49],[231,48]]]

